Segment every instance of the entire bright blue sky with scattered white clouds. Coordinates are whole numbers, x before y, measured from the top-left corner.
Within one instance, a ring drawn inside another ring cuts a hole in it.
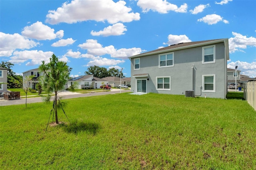
[[[229,39],[228,68],[256,77],[255,0],[0,0],[0,61],[16,74],[54,53],[84,75],[180,42]]]

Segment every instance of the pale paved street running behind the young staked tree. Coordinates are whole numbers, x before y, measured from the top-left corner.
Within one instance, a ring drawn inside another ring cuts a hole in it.
[[[130,92],[129,90],[121,90],[121,93],[127,93]],[[62,99],[71,99],[71,98],[77,98],[77,97],[89,97],[89,96],[99,96],[99,95],[108,95],[108,94],[116,94],[120,93],[120,89],[111,89],[111,91],[102,91],[102,92],[91,92],[91,93],[73,93],[70,91],[64,91],[60,92],[59,95],[62,97]],[[35,98],[28,98],[27,104],[29,103],[38,103],[42,102],[42,97],[35,97]],[[21,105],[25,104],[26,99],[17,99],[17,100],[0,100],[0,106],[7,106],[7,105]]]

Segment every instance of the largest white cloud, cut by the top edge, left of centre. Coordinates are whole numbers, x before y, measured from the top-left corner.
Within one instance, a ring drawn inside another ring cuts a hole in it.
[[[72,0],[64,2],[57,10],[50,10],[46,15],[46,22],[69,24],[95,20],[97,22],[108,21],[110,24],[117,22],[132,22],[140,20],[140,14],[131,12],[132,8],[125,6],[126,2],[120,0]]]

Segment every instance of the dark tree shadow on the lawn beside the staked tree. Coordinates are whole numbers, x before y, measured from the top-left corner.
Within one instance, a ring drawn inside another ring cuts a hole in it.
[[[78,132],[86,131],[96,135],[100,126],[96,123],[73,122],[69,125],[61,125],[63,130],[68,133],[77,134]]]

